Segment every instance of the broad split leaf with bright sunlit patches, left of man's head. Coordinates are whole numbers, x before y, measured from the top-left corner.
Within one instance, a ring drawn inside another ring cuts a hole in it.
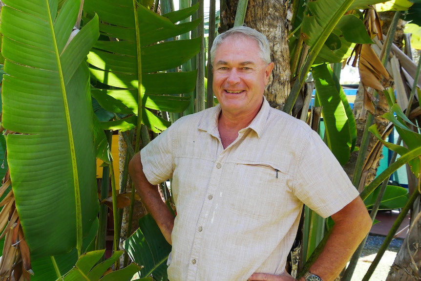
[[[101,85],[92,90],[92,95],[103,108],[134,114],[148,128],[160,132],[170,123],[154,110],[183,112],[188,107],[190,98],[180,94],[194,89],[197,71],[166,70],[195,56],[200,51],[201,39],[160,42],[196,27],[198,20],[176,22],[188,18],[197,8],[196,5],[160,16],[142,5],[133,8],[132,0],[118,3],[85,0],[87,17],[97,13],[101,21],[99,28],[103,36],[89,52],[88,63],[92,78]],[[125,118],[104,128],[129,130],[138,122]]]

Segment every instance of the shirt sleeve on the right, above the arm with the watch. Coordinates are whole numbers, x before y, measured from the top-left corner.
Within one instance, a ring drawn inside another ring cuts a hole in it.
[[[311,131],[297,159],[295,195],[322,217],[332,216],[358,195],[320,136]]]

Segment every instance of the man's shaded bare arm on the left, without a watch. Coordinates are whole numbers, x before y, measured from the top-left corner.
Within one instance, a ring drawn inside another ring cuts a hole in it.
[[[174,216],[162,200],[161,195],[158,192],[158,187],[147,181],[145,173],[143,172],[142,162],[140,161],[140,152],[136,153],[130,160],[128,171],[133,184],[136,187],[136,191],[145,204],[147,211],[155,219],[165,239],[171,244]]]

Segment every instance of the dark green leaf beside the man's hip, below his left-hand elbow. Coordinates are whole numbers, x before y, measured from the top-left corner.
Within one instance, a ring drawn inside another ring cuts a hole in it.
[[[167,259],[171,245],[165,240],[150,214],[139,219],[139,229],[127,238],[125,249],[130,258],[142,265],[141,277],[167,280]]]

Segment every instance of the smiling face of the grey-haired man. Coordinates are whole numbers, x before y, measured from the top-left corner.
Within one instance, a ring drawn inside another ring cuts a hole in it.
[[[257,114],[273,68],[253,39],[234,35],[221,43],[213,60],[213,92],[223,113]]]

